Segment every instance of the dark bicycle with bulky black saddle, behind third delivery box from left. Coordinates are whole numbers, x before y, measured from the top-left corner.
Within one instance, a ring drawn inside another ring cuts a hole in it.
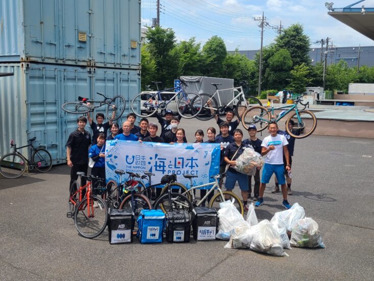
[[[193,205],[186,195],[171,192],[171,183],[177,181],[177,175],[165,175],[161,183],[167,186],[167,193],[161,195],[153,204],[154,209],[160,208],[164,214],[172,211],[185,210],[190,215],[190,222],[193,219]]]

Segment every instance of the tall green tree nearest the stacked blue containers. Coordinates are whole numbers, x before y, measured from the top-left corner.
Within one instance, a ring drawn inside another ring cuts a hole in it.
[[[176,46],[174,31],[170,28],[148,28],[146,33],[147,50],[156,63],[156,80],[162,82],[163,87],[171,87],[178,73],[178,52],[172,52]]]

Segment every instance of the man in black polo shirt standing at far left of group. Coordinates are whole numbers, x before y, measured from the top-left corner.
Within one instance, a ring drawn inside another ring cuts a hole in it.
[[[71,167],[69,190],[73,181],[78,179],[77,172],[87,174],[88,149],[91,145],[91,135],[84,129],[87,124],[87,118],[80,116],[77,119],[77,123],[78,129],[69,135],[66,142],[67,166]],[[86,179],[81,178],[81,185],[85,184]],[[85,193],[85,190],[83,190],[83,193]]]

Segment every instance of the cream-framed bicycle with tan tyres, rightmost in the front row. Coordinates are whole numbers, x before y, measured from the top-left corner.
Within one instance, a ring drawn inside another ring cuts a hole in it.
[[[209,194],[211,194],[212,192],[214,193],[214,190],[217,189],[218,193],[213,195],[212,199],[209,201],[208,206],[210,208],[214,208],[214,209],[218,210],[220,208],[219,203],[225,202],[227,200],[232,201],[234,199],[234,201],[233,201],[234,205],[238,209],[239,213],[242,216],[244,215],[244,207],[243,207],[243,204],[242,204],[241,200],[239,199],[239,197],[231,191],[222,191],[221,188],[219,187],[219,179],[225,177],[226,176],[225,173],[217,174],[215,176],[211,176],[210,178],[215,179],[215,181],[213,181],[213,182],[209,182],[209,183],[205,183],[205,184],[201,184],[201,185],[195,185],[195,186],[193,186],[192,178],[197,177],[196,175],[183,175],[183,176],[190,180],[191,188],[188,191],[182,193],[182,195],[189,194],[192,197],[192,205],[194,207],[200,207],[205,202],[205,200],[209,197]],[[203,198],[201,198],[200,201],[197,201],[195,199],[195,195],[194,195],[193,191],[195,189],[203,188],[203,187],[209,186],[209,185],[211,185],[212,187],[207,191],[207,194]]]

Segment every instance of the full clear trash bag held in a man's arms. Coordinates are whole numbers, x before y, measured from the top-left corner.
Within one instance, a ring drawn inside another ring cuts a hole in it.
[[[256,169],[261,168],[264,165],[264,162],[264,157],[252,148],[247,147],[238,159],[236,159],[234,169],[239,173],[254,176],[256,174]]]

